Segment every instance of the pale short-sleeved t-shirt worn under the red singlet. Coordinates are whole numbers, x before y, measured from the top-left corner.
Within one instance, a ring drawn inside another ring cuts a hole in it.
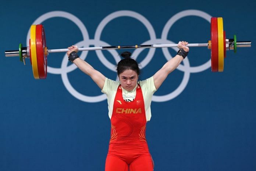
[[[146,111],[146,120],[149,121],[151,118],[151,109],[150,109],[150,104],[152,101],[152,96],[154,92],[156,92],[156,87],[154,86],[154,79],[153,76],[145,79],[143,81],[138,82],[139,85],[141,85],[141,90],[142,90],[142,95],[143,95],[143,100],[144,100],[144,105],[145,105],[145,111]],[[108,108],[109,108],[109,118],[111,119],[112,113],[113,113],[113,105],[114,105],[114,100],[115,100],[115,94],[117,93],[117,88],[120,85],[120,82],[118,81],[113,81],[109,78],[106,78],[102,93],[105,93],[107,95],[107,103],[108,103]],[[125,101],[133,101],[136,96],[136,87],[131,90],[127,91],[122,88],[122,96]]]

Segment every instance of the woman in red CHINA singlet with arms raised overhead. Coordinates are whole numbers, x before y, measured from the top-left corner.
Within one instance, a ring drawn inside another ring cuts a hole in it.
[[[169,60],[152,77],[139,81],[138,63],[131,53],[121,54],[117,64],[120,82],[106,78],[77,54],[78,47],[68,47],[68,59],[77,65],[107,95],[111,137],[105,171],[153,171],[154,164],[145,138],[146,122],[151,118],[150,104],[153,93],[168,74],[187,56],[187,42],[178,43],[178,54]]]

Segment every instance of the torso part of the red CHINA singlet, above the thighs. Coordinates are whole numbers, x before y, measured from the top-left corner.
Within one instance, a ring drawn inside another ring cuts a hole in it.
[[[145,133],[146,115],[140,85],[131,102],[123,99],[121,86],[118,86],[111,117],[108,155],[120,157],[127,160],[127,163],[136,157],[149,155]]]

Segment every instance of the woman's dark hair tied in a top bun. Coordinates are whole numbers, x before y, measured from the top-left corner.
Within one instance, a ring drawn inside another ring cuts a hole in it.
[[[133,70],[137,72],[137,74],[139,75],[140,70],[139,70],[138,63],[131,58],[131,52],[125,51],[121,53],[121,56],[124,59],[119,61],[117,64],[117,75],[121,74],[125,70]]]

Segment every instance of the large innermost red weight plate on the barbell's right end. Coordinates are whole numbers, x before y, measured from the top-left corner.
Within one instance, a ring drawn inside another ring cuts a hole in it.
[[[211,71],[218,72],[218,22],[211,18]]]

